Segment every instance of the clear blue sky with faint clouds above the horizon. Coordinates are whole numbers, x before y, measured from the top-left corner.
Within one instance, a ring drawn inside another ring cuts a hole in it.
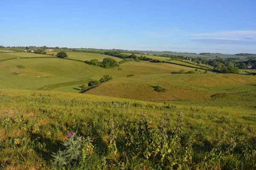
[[[0,0],[0,45],[256,54],[256,0]]]

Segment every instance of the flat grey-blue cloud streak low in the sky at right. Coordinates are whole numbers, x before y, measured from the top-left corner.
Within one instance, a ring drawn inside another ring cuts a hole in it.
[[[228,45],[256,45],[256,41],[222,40],[222,39],[192,39],[192,42],[204,44],[228,44]]]

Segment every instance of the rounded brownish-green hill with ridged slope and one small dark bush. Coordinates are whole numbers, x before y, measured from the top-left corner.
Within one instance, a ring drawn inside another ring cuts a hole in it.
[[[237,74],[160,74],[113,79],[86,94],[145,101],[207,99],[218,93],[256,89],[256,77]],[[167,91],[154,91],[160,86]]]

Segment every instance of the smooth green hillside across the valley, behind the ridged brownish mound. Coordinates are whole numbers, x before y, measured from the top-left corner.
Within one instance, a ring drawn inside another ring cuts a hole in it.
[[[34,55],[36,54],[30,56]],[[38,55],[44,56],[43,54]],[[14,59],[0,62],[0,64],[0,88],[30,90],[56,83],[100,79],[105,74],[118,78],[126,77],[128,74],[166,74],[180,69],[193,70],[177,65],[172,66],[166,63],[159,65],[150,62],[127,62],[120,65],[119,70],[118,68],[105,69],[83,62],[58,58]],[[78,85],[81,84],[74,85],[74,88]],[[65,89],[65,91],[74,92],[73,87]]]

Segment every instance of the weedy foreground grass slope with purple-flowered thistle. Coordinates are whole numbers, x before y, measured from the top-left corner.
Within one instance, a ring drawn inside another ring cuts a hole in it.
[[[240,109],[0,89],[0,168],[253,170],[256,93],[230,95]]]

